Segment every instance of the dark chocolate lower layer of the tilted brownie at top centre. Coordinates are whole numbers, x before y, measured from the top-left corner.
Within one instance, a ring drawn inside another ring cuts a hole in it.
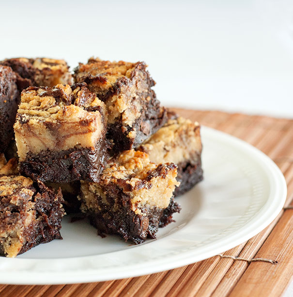
[[[145,104],[140,110],[141,116],[136,119],[132,127],[127,126],[126,130],[125,125],[123,127],[122,120],[108,125],[107,139],[114,143],[113,153],[136,148],[166,123],[168,119],[167,111],[160,107],[160,102],[156,99],[154,91],[150,90],[150,93],[144,94],[142,97],[148,96],[150,100],[142,101]],[[127,137],[131,131],[135,132],[133,138]]]

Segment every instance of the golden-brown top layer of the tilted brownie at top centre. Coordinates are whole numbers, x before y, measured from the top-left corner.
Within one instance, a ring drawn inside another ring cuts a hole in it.
[[[155,82],[144,62],[128,63],[89,59],[75,69],[76,82],[87,82],[89,88],[108,107],[108,122],[121,120],[132,127],[141,115],[144,100],[154,96],[150,88]]]

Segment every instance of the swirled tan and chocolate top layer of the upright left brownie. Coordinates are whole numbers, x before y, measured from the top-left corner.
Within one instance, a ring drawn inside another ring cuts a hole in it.
[[[105,104],[85,83],[29,87],[21,93],[15,140],[20,161],[28,152],[94,147],[105,134]]]

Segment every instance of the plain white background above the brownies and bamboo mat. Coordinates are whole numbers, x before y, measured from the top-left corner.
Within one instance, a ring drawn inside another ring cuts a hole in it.
[[[0,1],[0,59],[144,60],[165,105],[293,117],[293,1]]]

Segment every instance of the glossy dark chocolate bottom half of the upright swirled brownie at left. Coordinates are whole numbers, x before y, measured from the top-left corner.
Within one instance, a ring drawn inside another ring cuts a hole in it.
[[[103,138],[94,149],[75,147],[62,151],[42,151],[28,154],[20,163],[20,172],[32,180],[51,182],[98,181],[108,160]]]

